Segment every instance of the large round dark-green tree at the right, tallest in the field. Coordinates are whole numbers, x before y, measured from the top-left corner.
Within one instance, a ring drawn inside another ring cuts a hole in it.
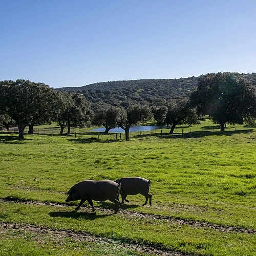
[[[201,75],[190,100],[199,114],[209,115],[220,124],[221,131],[225,130],[225,123],[243,124],[256,117],[255,87],[239,73]]]

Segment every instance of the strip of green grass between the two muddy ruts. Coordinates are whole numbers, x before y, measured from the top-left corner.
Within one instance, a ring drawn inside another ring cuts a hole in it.
[[[65,227],[67,230],[88,231],[91,234],[126,242],[154,244],[187,253],[200,252],[202,255],[244,255],[245,250],[248,251],[247,255],[256,253],[255,235],[252,234],[223,233],[211,228],[190,227],[164,220],[104,214],[98,210],[96,214],[91,214],[88,209],[72,212],[68,207],[29,206],[17,203],[3,203],[3,206],[6,216],[2,216],[2,219],[10,222],[29,222],[54,229]]]

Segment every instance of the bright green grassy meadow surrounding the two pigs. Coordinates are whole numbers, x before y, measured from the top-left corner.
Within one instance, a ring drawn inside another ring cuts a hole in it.
[[[136,246],[169,255],[256,255],[256,128],[220,132],[206,119],[174,134],[131,133],[129,141],[91,130],[24,140],[0,134],[0,255],[151,254]],[[78,202],[65,203],[81,180],[136,176],[151,180],[152,207],[142,206],[141,195],[128,196],[116,215],[110,201],[94,201],[96,213],[87,203],[77,212]]]

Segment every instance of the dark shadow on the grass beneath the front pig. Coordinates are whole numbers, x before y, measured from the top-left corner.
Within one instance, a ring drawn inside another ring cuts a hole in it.
[[[82,211],[53,211],[49,212],[49,215],[53,218],[56,217],[61,217],[61,218],[71,218],[71,219],[76,219],[76,220],[88,220],[88,221],[93,221],[95,219],[99,218],[105,218],[112,216],[113,213],[108,213],[108,214],[97,214],[97,209],[96,212],[82,212]]]

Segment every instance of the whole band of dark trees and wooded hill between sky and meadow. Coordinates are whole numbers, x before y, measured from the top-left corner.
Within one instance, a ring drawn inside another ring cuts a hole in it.
[[[87,125],[125,131],[138,123],[198,123],[208,115],[214,123],[254,124],[256,73],[219,72],[180,79],[147,79],[94,83],[80,88],[54,90],[40,82],[17,79],[0,81],[0,127],[18,126],[19,137],[29,126],[58,122],[63,129]]]

